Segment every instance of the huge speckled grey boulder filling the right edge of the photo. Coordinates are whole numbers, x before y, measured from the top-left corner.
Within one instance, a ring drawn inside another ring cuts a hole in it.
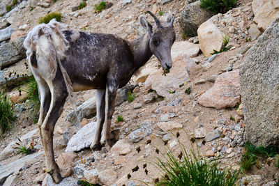
[[[246,53],[240,84],[246,122],[245,141],[279,145],[279,20]]]

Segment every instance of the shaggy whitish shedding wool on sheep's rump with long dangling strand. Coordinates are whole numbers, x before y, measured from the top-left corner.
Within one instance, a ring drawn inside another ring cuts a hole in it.
[[[31,60],[31,55],[36,52],[37,59],[40,57],[40,63],[44,64],[44,67],[48,73],[48,79],[52,80],[56,76],[57,63],[61,69],[63,80],[66,84],[67,91],[70,96],[70,102],[75,109],[75,115],[77,122],[80,123],[80,118],[77,116],[77,107],[73,98],[73,86],[70,82],[70,77],[61,63],[61,60],[65,58],[65,52],[68,49],[68,41],[63,34],[63,29],[66,29],[64,24],[56,22],[55,19],[51,20],[48,24],[39,24],[34,27],[24,40],[24,47],[27,49],[27,59]],[[29,63],[30,65],[31,63]]]

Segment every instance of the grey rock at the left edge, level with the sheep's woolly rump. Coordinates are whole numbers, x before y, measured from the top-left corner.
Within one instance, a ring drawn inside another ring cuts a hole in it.
[[[13,65],[26,57],[23,41],[25,36],[0,45],[0,69]]]

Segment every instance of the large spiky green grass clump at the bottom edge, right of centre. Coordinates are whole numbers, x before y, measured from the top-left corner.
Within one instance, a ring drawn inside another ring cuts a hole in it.
[[[176,158],[171,150],[167,150],[163,159],[157,158],[156,166],[163,176],[163,180],[156,185],[214,185],[232,186],[236,185],[240,171],[232,171],[218,168],[217,161],[208,161],[196,155],[192,149],[190,153],[181,147],[181,153]],[[179,160],[181,159],[181,160]],[[157,180],[158,181],[158,180]]]

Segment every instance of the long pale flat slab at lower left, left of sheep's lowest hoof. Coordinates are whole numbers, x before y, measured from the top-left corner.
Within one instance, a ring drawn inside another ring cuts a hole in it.
[[[15,171],[19,170],[24,166],[25,164],[28,164],[32,160],[34,160],[36,157],[43,155],[44,151],[34,153],[31,155],[26,155],[19,160],[15,160],[14,162],[10,162],[7,165],[0,166],[0,185],[3,184],[3,182],[6,180],[10,174],[14,173]]]

